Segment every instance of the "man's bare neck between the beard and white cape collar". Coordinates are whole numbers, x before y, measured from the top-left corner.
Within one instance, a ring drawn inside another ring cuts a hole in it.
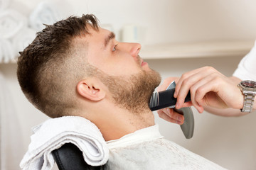
[[[97,125],[106,141],[117,140],[124,135],[155,124],[154,115],[149,108],[141,113],[132,113],[114,106],[100,110],[97,108],[88,119]]]

